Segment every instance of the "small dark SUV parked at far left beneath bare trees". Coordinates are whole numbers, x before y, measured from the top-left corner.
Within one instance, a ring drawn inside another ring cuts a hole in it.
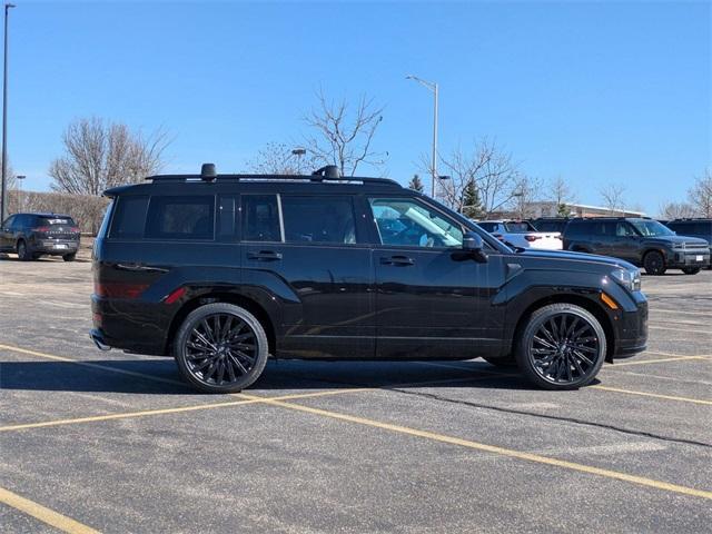
[[[23,261],[44,255],[73,261],[79,239],[79,228],[68,215],[16,214],[0,226],[0,253],[17,253]]]

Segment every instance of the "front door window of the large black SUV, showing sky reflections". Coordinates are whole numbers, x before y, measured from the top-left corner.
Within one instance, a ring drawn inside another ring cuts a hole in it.
[[[462,247],[463,230],[438,211],[409,198],[372,198],[370,209],[383,245]]]

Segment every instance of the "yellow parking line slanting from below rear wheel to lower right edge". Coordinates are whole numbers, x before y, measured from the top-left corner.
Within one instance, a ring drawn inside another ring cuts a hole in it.
[[[702,497],[712,501],[712,492],[706,492],[704,490],[695,490],[692,487],[680,486],[676,484],[670,484],[668,482],[655,481],[653,478],[646,478],[643,476],[629,475],[626,473],[621,473],[617,471],[603,469],[600,467],[593,467],[590,465],[578,464],[575,462],[567,462],[564,459],[552,458],[548,456],[541,456],[538,454],[525,453],[522,451],[515,451],[512,448],[497,447],[494,445],[487,445],[484,443],[472,442],[469,439],[462,439],[459,437],[446,436],[443,434],[437,434],[434,432],[419,431],[416,428],[411,428],[407,426],[393,425],[390,423],[382,423],[379,421],[367,419],[365,417],[356,417],[353,415],[342,414],[338,412],[332,412],[327,409],[313,408],[309,406],[301,406],[299,404],[286,403],[276,399],[265,400],[265,404],[270,404],[274,406],[280,406],[283,408],[294,409],[297,412],[305,412],[313,415],[318,415],[322,417],[329,417],[333,419],[345,421],[348,423],[355,423],[358,425],[370,426],[374,428],[380,428],[384,431],[390,431],[399,434],[406,434],[415,437],[422,437],[425,439],[432,439],[435,442],[447,443],[451,445],[457,445],[461,447],[472,448],[476,451],[483,451],[486,453],[497,454],[501,456],[508,456],[512,458],[524,459],[527,462],[534,462],[537,464],[553,465],[556,467],[562,467],[565,469],[577,471],[581,473],[587,473],[591,475],[599,475],[606,478],[614,478],[619,481],[629,482],[632,484],[637,484],[647,487],[654,487],[656,490],[663,490],[672,493],[679,493],[682,495],[689,495],[694,497]]]

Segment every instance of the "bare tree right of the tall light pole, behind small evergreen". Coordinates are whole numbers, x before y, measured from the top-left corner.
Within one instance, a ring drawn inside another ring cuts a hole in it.
[[[474,182],[483,216],[508,204],[515,194],[517,181],[516,166],[512,156],[504,152],[494,141],[483,139],[474,144],[471,152],[457,147],[447,158],[441,158],[451,179],[442,182],[443,201],[451,208],[462,211],[465,189]]]

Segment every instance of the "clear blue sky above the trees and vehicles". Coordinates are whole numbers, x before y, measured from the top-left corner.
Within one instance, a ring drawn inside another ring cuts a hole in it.
[[[385,106],[376,149],[403,182],[429,149],[495,138],[578,201],[607,182],[656,212],[712,165],[712,2],[31,2],[10,28],[9,157],[26,189],[77,117],[174,138],[166,171],[245,170],[298,144],[319,87]]]

